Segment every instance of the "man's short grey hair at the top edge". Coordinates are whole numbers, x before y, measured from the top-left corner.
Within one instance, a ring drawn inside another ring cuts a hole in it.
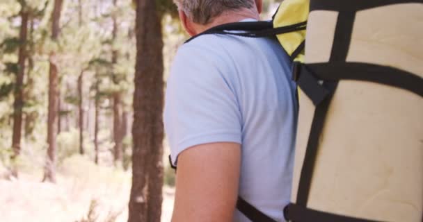
[[[179,10],[198,24],[208,24],[226,10],[253,8],[254,0],[173,0]]]

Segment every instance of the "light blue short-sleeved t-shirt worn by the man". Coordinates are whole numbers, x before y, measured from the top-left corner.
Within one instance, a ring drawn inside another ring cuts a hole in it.
[[[289,203],[296,130],[289,57],[271,38],[202,35],[182,45],[166,89],[171,157],[213,142],[241,144],[239,196],[277,221]],[[235,212],[234,221],[249,221]]]

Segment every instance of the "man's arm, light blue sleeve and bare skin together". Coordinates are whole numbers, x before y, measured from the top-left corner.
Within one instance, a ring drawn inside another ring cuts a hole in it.
[[[173,221],[231,221],[238,194],[241,111],[232,70],[202,46],[179,49],[164,122],[177,164]]]

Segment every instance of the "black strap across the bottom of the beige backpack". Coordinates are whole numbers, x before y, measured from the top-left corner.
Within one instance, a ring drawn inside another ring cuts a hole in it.
[[[351,216],[342,216],[338,214],[330,214],[318,210],[311,210],[294,203],[290,203],[285,207],[284,214],[289,220],[295,222],[324,222],[324,221],[342,221],[342,222],[378,222],[367,219],[358,219]]]

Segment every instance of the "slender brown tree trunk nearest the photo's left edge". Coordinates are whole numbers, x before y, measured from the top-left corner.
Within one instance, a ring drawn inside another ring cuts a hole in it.
[[[19,46],[19,57],[18,57],[18,71],[16,76],[15,85],[15,102],[13,103],[13,136],[12,136],[12,147],[13,147],[13,158],[19,155],[21,149],[21,137],[22,137],[22,108],[24,106],[23,98],[23,85],[24,85],[24,74],[25,74],[25,61],[26,61],[26,38],[28,33],[28,12],[25,11],[24,6],[20,12],[22,24],[19,31],[19,40],[21,45]],[[17,172],[14,172],[16,174]]]

